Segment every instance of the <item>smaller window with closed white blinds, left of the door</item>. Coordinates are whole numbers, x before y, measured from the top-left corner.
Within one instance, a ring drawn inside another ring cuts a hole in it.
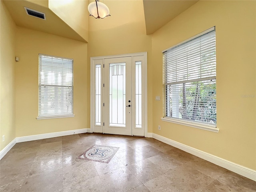
[[[73,60],[39,54],[38,118],[73,117]]]

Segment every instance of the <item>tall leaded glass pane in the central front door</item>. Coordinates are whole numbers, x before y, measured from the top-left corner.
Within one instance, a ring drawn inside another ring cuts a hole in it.
[[[109,125],[126,126],[126,65],[109,64]]]

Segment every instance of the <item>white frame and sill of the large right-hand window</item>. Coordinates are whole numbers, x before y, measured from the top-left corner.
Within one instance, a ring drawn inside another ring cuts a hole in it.
[[[173,48],[176,48],[182,44],[185,44],[187,42],[190,42],[191,40],[194,40],[200,36],[203,36],[205,34],[208,34],[209,32],[212,32],[212,31],[215,31],[215,26],[212,27],[212,28],[209,28],[208,30],[200,33],[200,34],[197,34],[196,36],[193,36],[192,38],[189,38],[183,42],[180,42],[179,44],[176,44],[166,50],[163,50],[162,51],[162,54],[164,56],[165,53],[167,53],[167,51],[173,49]],[[215,34],[216,35],[216,34]],[[215,49],[216,49],[216,44],[215,44]],[[183,52],[182,52],[183,53]],[[216,54],[215,54],[215,57],[216,57]],[[201,63],[201,62],[200,62]],[[166,65],[166,62],[165,60],[163,60],[163,117],[161,118],[162,121],[165,121],[165,122],[171,122],[171,123],[175,123],[175,124],[181,124],[181,125],[185,125],[185,126],[190,126],[190,127],[194,127],[194,128],[199,128],[199,129],[203,129],[203,130],[208,130],[208,131],[212,131],[212,132],[218,132],[219,129],[217,128],[217,125],[216,124],[209,124],[209,123],[204,123],[204,122],[195,122],[195,121],[192,121],[192,120],[185,120],[185,119],[182,119],[182,118],[175,118],[175,117],[169,117],[169,116],[166,116],[167,114],[167,111],[166,111],[166,107],[168,106],[168,103],[167,103],[167,99],[166,99],[166,86],[168,86],[169,84],[166,82],[167,80],[165,79],[165,76],[166,76],[166,72],[165,72],[165,65]],[[216,70],[216,65],[215,65],[215,70]],[[203,81],[203,80],[211,80],[211,78],[199,78],[199,79],[195,79],[196,81]],[[216,74],[215,74],[215,78],[212,78],[216,81]],[[187,80],[185,82],[190,82],[192,83],[193,81],[195,80]],[[183,81],[184,82],[184,81]],[[176,82],[173,82],[173,84],[175,85],[178,85],[178,84],[181,84],[183,83],[182,81],[179,81],[177,80]],[[215,89],[216,91],[216,89]]]

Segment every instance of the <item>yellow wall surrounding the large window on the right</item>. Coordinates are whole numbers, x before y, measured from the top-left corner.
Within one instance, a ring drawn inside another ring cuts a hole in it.
[[[162,95],[162,50],[216,26],[217,127],[213,133],[163,122],[153,100],[153,132],[256,170],[256,2],[200,1],[152,35],[154,98]],[[249,96],[250,97],[247,97]],[[243,97],[245,96],[245,97]],[[157,126],[161,125],[161,131]]]

